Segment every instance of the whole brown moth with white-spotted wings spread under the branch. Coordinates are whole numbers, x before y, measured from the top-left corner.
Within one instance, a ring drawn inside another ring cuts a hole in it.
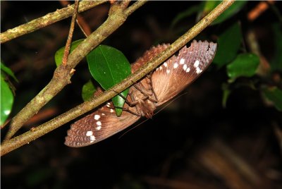
[[[132,64],[132,73],[168,46],[169,44],[162,44],[146,51]],[[183,47],[178,56],[171,56],[151,75],[147,75],[130,87],[123,106],[125,111],[121,116],[116,116],[114,105],[111,102],[106,103],[97,111],[71,125],[65,145],[69,147],[92,145],[128,128],[141,116],[152,118],[158,106],[176,97],[206,70],[214,59],[216,47],[216,43],[195,40],[189,48]],[[96,94],[101,92],[102,90],[99,89]]]

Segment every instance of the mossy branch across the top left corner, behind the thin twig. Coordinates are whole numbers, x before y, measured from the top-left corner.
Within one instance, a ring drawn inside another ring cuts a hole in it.
[[[94,6],[99,4],[104,4],[106,0],[101,1],[81,1],[80,6],[78,8],[78,12],[87,11]],[[8,42],[11,39],[15,39],[16,37],[20,37],[30,32],[34,32],[40,28],[43,28],[47,25],[51,25],[52,23],[56,23],[59,20],[63,20],[73,15],[73,5],[68,6],[66,8],[61,8],[53,13],[48,13],[45,16],[32,20],[23,25],[19,25],[16,28],[9,29],[6,32],[0,33],[0,44],[4,42]]]

